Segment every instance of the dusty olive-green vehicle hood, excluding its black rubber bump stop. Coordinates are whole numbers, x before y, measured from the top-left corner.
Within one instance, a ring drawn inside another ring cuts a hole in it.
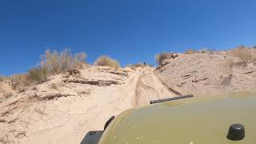
[[[192,98],[126,110],[111,122],[99,144],[255,143],[256,93],[231,95],[214,101]],[[243,140],[226,138],[233,123],[245,126]]]

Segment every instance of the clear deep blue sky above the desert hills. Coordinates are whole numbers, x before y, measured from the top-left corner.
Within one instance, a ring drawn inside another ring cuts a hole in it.
[[[0,74],[26,72],[47,48],[154,63],[161,51],[256,45],[255,0],[1,0]]]

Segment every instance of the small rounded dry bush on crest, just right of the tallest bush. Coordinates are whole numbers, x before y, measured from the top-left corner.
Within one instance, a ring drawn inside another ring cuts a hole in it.
[[[117,60],[110,58],[106,55],[103,55],[103,56],[97,58],[97,60],[94,62],[94,65],[95,66],[110,66],[115,69],[121,67]]]

